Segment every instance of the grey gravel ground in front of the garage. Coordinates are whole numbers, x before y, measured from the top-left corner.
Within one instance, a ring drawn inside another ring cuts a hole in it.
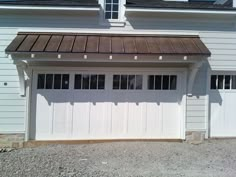
[[[118,142],[0,153],[1,177],[235,177],[236,140]]]

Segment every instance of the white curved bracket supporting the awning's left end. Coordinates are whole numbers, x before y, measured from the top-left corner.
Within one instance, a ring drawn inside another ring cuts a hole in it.
[[[19,83],[20,83],[20,95],[25,96],[25,89],[26,89],[26,81],[25,81],[25,69],[27,67],[26,63],[24,62],[14,62],[16,65],[16,69],[18,72]]]

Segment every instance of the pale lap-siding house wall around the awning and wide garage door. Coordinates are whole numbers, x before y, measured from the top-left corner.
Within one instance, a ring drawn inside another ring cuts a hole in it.
[[[30,15],[29,15],[30,14]],[[197,74],[193,97],[187,97],[187,131],[207,131],[208,70],[236,70],[235,17],[127,14],[124,27],[100,25],[96,13],[0,12],[0,133],[24,132],[26,100],[19,96],[18,76],[5,48],[18,31],[109,31],[123,33],[198,34],[212,52]],[[8,85],[4,86],[7,82]]]

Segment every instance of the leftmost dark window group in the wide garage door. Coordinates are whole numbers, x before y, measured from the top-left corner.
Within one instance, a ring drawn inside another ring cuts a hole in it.
[[[69,74],[38,74],[37,89],[69,89]]]

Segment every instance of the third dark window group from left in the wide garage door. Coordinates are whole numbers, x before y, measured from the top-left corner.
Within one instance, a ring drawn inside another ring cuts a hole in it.
[[[114,90],[142,90],[142,75],[113,75]]]

